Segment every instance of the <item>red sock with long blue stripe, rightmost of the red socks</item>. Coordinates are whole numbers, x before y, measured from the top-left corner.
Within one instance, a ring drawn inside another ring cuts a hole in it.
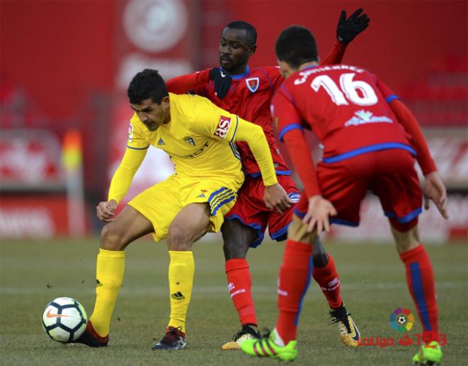
[[[423,340],[438,340],[438,309],[433,266],[423,245],[400,255],[406,267],[406,281],[423,325]]]

